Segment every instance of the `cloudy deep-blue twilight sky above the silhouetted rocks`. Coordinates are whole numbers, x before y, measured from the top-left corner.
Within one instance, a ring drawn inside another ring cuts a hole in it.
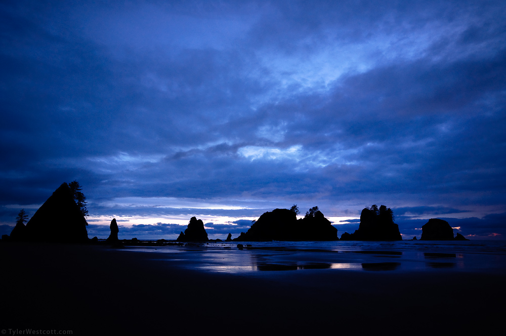
[[[3,1],[0,232],[63,182],[88,235],[238,236],[385,204],[506,238],[506,3]]]

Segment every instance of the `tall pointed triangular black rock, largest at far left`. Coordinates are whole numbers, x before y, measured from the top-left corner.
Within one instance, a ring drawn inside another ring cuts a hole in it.
[[[24,238],[45,242],[88,241],[86,219],[66,183],[56,189],[28,221]]]

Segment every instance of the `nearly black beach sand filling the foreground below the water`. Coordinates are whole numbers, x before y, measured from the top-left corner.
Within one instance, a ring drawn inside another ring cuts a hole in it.
[[[492,334],[506,313],[497,272],[247,276],[86,245],[2,243],[0,257],[6,334]]]

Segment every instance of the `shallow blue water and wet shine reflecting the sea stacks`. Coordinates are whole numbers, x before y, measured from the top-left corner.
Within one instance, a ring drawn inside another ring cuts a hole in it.
[[[303,241],[186,243],[126,247],[156,253],[173,265],[206,272],[506,273],[506,241]],[[250,245],[250,246],[248,246]]]

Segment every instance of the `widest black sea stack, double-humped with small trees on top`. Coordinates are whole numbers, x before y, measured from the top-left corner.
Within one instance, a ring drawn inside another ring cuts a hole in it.
[[[338,229],[317,211],[304,219],[297,220],[297,214],[288,209],[274,209],[266,212],[249,230],[235,241],[272,240],[339,240]]]

